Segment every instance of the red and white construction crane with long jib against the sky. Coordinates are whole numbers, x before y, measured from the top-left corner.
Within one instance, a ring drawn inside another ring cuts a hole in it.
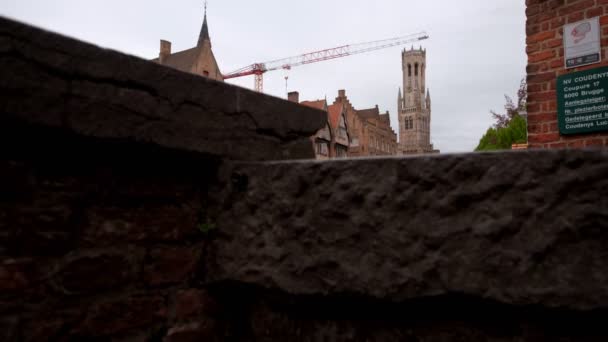
[[[265,63],[254,63],[223,76],[224,79],[227,80],[231,78],[255,75],[254,88],[256,91],[261,93],[264,91],[263,75],[268,71],[274,71],[279,69],[290,70],[291,68],[299,65],[312,64],[327,61],[330,59],[352,56],[364,52],[386,49],[389,47],[413,43],[428,38],[429,36],[426,34],[426,32],[419,32],[408,36],[376,40],[373,42],[359,44],[344,45],[333,49],[314,51],[299,56],[277,59]]]

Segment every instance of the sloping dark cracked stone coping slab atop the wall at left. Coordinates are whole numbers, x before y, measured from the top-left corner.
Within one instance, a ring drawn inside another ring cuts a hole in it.
[[[0,17],[9,120],[238,160],[314,158],[326,114]]]

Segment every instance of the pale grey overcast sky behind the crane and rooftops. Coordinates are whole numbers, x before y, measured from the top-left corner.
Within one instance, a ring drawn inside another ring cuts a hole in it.
[[[427,31],[431,136],[442,152],[466,152],[514,96],[525,76],[525,1],[517,0],[210,0],[209,31],[227,73],[255,62]],[[173,51],[196,45],[202,0],[2,0],[0,15],[142,58],[158,56],[159,40]],[[401,49],[393,47],[267,73],[265,92],[301,100],[346,89],[355,108],[390,111],[397,131]],[[411,46],[408,46],[411,48]],[[231,80],[253,87],[253,78]]]

